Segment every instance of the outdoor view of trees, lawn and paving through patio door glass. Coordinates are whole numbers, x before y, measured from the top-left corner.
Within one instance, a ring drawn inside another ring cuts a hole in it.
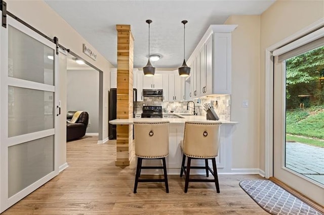
[[[286,61],[286,165],[324,184],[324,46]]]

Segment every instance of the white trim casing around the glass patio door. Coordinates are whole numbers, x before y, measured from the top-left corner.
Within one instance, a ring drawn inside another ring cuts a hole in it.
[[[273,51],[324,26],[324,18],[265,50],[265,177],[273,176]],[[309,42],[309,41],[308,41]],[[286,49],[287,51],[287,49]],[[278,53],[276,53],[278,54]]]

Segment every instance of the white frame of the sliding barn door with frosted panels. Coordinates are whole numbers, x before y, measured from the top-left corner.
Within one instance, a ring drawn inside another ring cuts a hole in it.
[[[56,139],[55,134],[57,133],[57,128],[59,126],[59,121],[58,121],[58,109],[56,109],[56,106],[58,105],[58,100],[59,100],[59,79],[58,79],[58,68],[59,68],[59,58],[58,55],[54,55],[54,60],[55,60],[55,65],[54,65],[54,86],[52,85],[47,85],[47,84],[39,84],[31,81],[21,81],[19,79],[15,79],[12,77],[8,77],[8,27],[9,25],[17,28],[18,30],[22,31],[23,33],[27,34],[28,36],[36,39],[37,41],[53,48],[55,50],[56,46],[53,42],[47,40],[43,36],[39,35],[35,31],[29,29],[22,23],[18,22],[17,20],[7,16],[7,28],[1,27],[0,30],[0,69],[2,74],[5,73],[5,76],[1,78],[0,82],[0,89],[1,89],[1,98],[7,101],[8,103],[8,84],[10,85],[16,85],[19,83],[23,83],[23,87],[25,88],[38,88],[40,90],[48,90],[48,91],[54,91],[54,129],[48,129],[40,132],[35,132],[35,133],[29,133],[29,134],[24,134],[24,135],[19,135],[16,137],[8,137],[8,104],[7,105],[1,105],[0,107],[0,212],[3,212],[13,204],[15,204],[17,201],[21,200],[24,198],[26,195],[29,193],[33,192],[36,190],[38,187],[42,186],[52,178],[54,178],[56,175],[58,175],[58,170],[59,170],[59,160],[58,160],[58,141]],[[7,77],[6,77],[7,76]],[[7,88],[7,90],[5,90]],[[24,188],[23,190],[19,191],[15,195],[11,196],[10,198],[8,197],[8,147],[10,145],[13,145],[13,140],[17,142],[26,142],[28,140],[34,139],[36,137],[43,137],[47,135],[54,135],[54,171],[46,175],[45,177],[37,180],[33,184],[29,185],[28,187]]]

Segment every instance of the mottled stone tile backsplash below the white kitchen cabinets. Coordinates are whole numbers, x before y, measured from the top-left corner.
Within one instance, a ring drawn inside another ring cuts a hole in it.
[[[216,114],[221,120],[230,121],[230,95],[220,95],[220,96],[208,96],[200,99],[200,103],[197,103],[199,99],[193,99],[195,102],[195,110],[198,115],[206,116],[206,111],[204,110],[204,104],[206,102],[213,101],[214,109]],[[187,110],[188,101],[163,101],[162,97],[144,97],[144,101],[138,101],[136,105],[136,113],[142,113],[143,105],[160,105],[162,106],[164,113],[193,113],[193,109],[189,108]],[[193,107],[192,103],[189,103],[190,107]]]

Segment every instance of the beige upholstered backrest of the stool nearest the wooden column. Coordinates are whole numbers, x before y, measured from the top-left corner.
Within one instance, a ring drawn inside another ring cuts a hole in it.
[[[169,154],[169,122],[134,122],[135,154],[143,158]]]

